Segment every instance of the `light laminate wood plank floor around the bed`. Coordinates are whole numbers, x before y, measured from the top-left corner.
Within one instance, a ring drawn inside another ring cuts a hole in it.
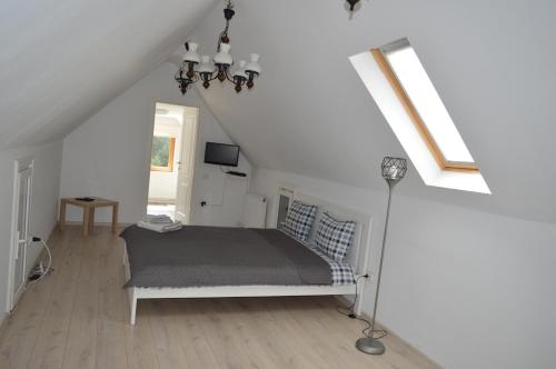
[[[129,321],[123,242],[56,231],[54,272],[31,286],[0,332],[0,368],[436,368],[400,339],[354,347],[365,325],[330,297],[143,300]]]

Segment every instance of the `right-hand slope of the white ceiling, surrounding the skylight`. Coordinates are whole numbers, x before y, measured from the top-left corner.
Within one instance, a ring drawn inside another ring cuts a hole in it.
[[[348,57],[408,37],[493,196],[427,188],[415,170],[397,190],[556,222],[556,2],[369,0],[351,20],[339,0],[237,10],[232,54],[260,52],[262,76],[201,93],[256,166],[384,189],[381,158],[404,152]],[[202,53],[222,26],[219,6],[193,32]]]

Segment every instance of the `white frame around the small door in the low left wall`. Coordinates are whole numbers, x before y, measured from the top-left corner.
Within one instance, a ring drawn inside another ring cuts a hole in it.
[[[27,218],[26,218],[26,228],[27,231],[29,232],[30,229],[30,212],[31,212],[31,203],[32,203],[32,187],[33,187],[33,167],[34,167],[34,158],[32,157],[27,157],[22,159],[17,159],[13,164],[13,198],[12,198],[12,211],[11,211],[11,237],[10,237],[10,259],[8,262],[8,298],[6,299],[6,311],[9,313],[13,310],[16,307],[19,298],[21,297],[22,291],[20,292],[19,296],[14,296],[13,291],[13,278],[16,273],[16,252],[17,248],[19,247],[18,245],[18,217],[19,217],[19,173],[29,168],[30,174],[29,174],[29,193],[28,193],[28,201],[27,201]],[[28,235],[29,236],[29,235]],[[23,255],[23,275],[27,275],[27,247],[26,245],[26,252]]]

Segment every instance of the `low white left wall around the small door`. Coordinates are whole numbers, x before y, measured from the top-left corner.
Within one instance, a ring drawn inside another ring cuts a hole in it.
[[[6,317],[4,308],[8,297],[14,162],[27,157],[34,158],[30,231],[31,236],[46,240],[57,220],[61,154],[62,141],[0,152],[0,173],[2,173],[0,180],[0,321]],[[37,247],[29,248],[28,270],[31,269],[40,251],[38,243]]]

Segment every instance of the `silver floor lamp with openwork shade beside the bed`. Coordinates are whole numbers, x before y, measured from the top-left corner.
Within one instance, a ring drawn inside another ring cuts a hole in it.
[[[386,221],[384,225],[383,249],[380,251],[380,263],[378,266],[377,289],[375,292],[375,307],[373,308],[373,319],[370,321],[370,333],[359,338],[355,346],[359,351],[370,355],[383,355],[386,350],[384,343],[375,338],[375,318],[377,316],[378,291],[380,290],[380,276],[383,275],[384,248],[386,246],[386,235],[388,232],[388,218],[390,216],[390,201],[394,187],[404,178],[407,171],[406,159],[386,157],[383,160],[383,178],[388,183],[388,208],[386,209]]]

